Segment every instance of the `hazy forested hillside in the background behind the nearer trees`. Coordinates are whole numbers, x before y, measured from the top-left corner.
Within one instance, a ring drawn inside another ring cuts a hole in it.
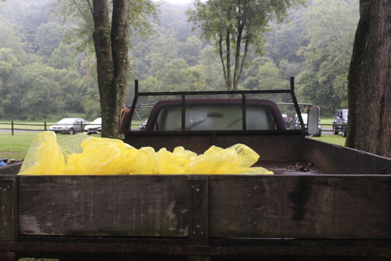
[[[101,115],[95,57],[69,40],[81,25],[61,23],[51,3],[0,3],[0,119]],[[127,103],[134,79],[143,92],[226,90],[216,48],[192,31],[185,15],[193,4],[156,4],[160,23],[151,22],[154,32],[130,35]],[[289,22],[269,24],[261,55],[248,50],[238,89],[286,89],[294,75],[299,102],[319,105],[325,116],[346,108],[358,19],[358,0],[312,0],[291,9]]]

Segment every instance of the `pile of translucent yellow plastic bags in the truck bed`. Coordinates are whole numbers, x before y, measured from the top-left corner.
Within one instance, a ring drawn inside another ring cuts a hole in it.
[[[259,155],[243,144],[226,149],[210,147],[202,155],[176,147],[155,152],[136,149],[120,140],[88,137],[81,133],[57,142],[54,132],[37,134],[19,174],[273,174],[251,167]]]

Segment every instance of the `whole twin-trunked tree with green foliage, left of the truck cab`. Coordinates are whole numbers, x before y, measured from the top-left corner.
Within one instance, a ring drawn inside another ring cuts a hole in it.
[[[132,29],[147,35],[155,6],[148,0],[58,0],[62,17],[79,21],[79,29],[67,34],[79,49],[96,56],[101,103],[102,137],[120,138],[119,111],[125,105],[128,88],[129,37]]]

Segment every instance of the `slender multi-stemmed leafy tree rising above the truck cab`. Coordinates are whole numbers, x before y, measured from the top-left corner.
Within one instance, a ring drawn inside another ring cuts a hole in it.
[[[195,22],[207,40],[214,41],[228,90],[238,89],[249,48],[261,53],[268,22],[274,18],[282,21],[294,4],[304,4],[304,0],[194,1],[195,10],[187,11],[189,21]]]

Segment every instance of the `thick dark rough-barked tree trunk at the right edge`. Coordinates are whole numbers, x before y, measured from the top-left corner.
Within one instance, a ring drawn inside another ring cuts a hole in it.
[[[391,157],[391,1],[360,0],[346,146]]]

